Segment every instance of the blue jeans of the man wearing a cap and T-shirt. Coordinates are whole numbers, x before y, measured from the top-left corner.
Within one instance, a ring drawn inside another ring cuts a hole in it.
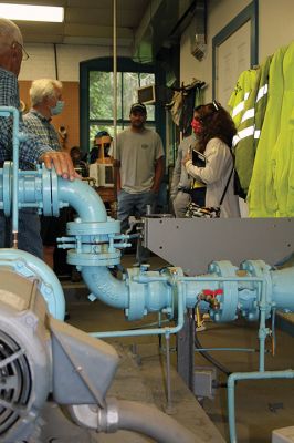
[[[122,231],[125,233],[128,225],[128,217],[130,215],[141,217],[146,215],[146,206],[151,206],[154,212],[156,205],[156,194],[151,190],[140,194],[129,194],[122,189],[117,195],[117,218],[120,220]],[[139,243],[137,247],[136,259],[139,264],[147,261],[149,258],[149,250],[144,248]]]

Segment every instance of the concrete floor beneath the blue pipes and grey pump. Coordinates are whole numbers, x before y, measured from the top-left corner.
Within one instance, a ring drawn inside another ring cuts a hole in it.
[[[125,256],[123,265],[132,267],[133,256]],[[158,257],[151,257],[151,267],[165,265]],[[123,330],[156,321],[149,316],[140,322],[126,322],[122,311],[106,307],[98,301],[91,303],[87,289],[81,284],[64,282],[69,322],[85,331]],[[238,321],[228,324],[214,324],[206,321],[204,330],[198,332],[203,347],[219,348],[258,348],[258,324]],[[120,369],[109,394],[118,398],[154,403],[159,409],[166,408],[165,356],[158,350],[157,337],[107,339],[122,356]],[[276,354],[266,354],[266,370],[283,370],[294,367],[293,338],[280,330],[276,331]],[[267,348],[271,349],[269,341]],[[224,365],[229,372],[258,370],[259,354],[254,352],[213,351],[211,356]],[[217,371],[219,388],[214,399],[201,400],[201,405],[187,391],[177,374],[176,354],[171,356],[172,401],[175,419],[193,431],[203,442],[229,442],[227,414],[227,375]],[[211,367],[211,363],[196,353],[196,365]],[[242,381],[237,387],[237,435],[238,443],[267,443],[274,429],[291,426],[294,423],[294,383],[293,381]],[[207,415],[206,415],[206,413]],[[213,425],[212,425],[213,423]],[[77,432],[77,431],[76,431]],[[88,433],[83,442],[145,442],[150,441],[130,432],[113,435],[94,435]],[[91,440],[92,439],[92,440]],[[94,439],[94,440],[93,440]],[[49,440],[44,440],[49,441]],[[55,440],[67,442],[67,440]]]

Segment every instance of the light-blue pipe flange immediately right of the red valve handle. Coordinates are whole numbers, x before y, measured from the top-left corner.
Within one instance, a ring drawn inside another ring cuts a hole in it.
[[[235,277],[238,268],[230,261],[212,261],[209,265],[209,274],[217,274],[219,277]],[[238,282],[220,281],[219,288],[222,293],[216,296],[219,308],[210,309],[210,317],[214,321],[232,321],[237,319],[238,311]]]

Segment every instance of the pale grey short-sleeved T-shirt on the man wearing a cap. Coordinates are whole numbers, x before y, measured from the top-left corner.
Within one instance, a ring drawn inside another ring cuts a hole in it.
[[[113,145],[109,155],[120,162],[122,189],[130,194],[147,192],[154,184],[155,164],[165,155],[160,136],[144,128],[127,128],[117,135],[116,153]]]

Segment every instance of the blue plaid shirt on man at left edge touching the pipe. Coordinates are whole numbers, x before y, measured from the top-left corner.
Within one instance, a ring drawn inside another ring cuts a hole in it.
[[[0,68],[0,106],[14,106],[18,110],[20,107],[18,79],[12,72],[2,68]],[[12,159],[12,117],[0,117],[0,165],[7,159]],[[19,130],[25,132],[21,113]],[[51,147],[41,144],[38,136],[29,134],[27,141],[20,142],[20,168],[33,168],[33,164],[48,151],[52,151]]]

